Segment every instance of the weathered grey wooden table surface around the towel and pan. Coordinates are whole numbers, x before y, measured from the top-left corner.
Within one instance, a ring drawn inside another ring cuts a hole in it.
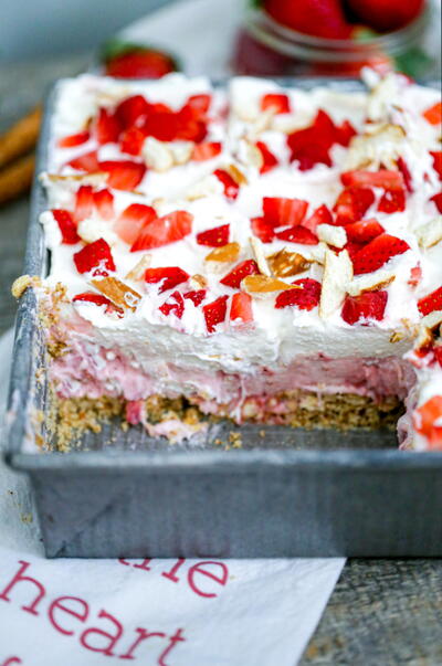
[[[0,66],[0,130],[86,62]],[[21,274],[28,214],[27,199],[0,209],[0,334],[13,324],[10,285]],[[441,666],[442,560],[349,560],[301,664]]]

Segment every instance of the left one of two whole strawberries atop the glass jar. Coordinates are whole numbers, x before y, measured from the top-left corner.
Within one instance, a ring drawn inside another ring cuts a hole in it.
[[[351,27],[339,0],[264,0],[264,10],[278,23],[327,39],[347,39]]]

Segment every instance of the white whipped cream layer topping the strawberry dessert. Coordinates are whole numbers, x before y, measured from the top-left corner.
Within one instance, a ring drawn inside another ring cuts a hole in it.
[[[159,141],[158,146],[147,137],[135,157],[124,151],[120,139],[119,142],[99,144],[94,123],[101,109],[112,114],[122,101],[135,95],[141,95],[152,105],[167,105],[175,113],[191,96],[210,95],[202,142],[218,145],[213,157],[203,160],[189,157],[196,155],[192,150],[201,142],[198,140],[172,139]],[[263,99],[272,95],[284,96],[288,108],[275,113],[272,97],[264,105]],[[188,80],[180,74],[149,83],[122,83],[92,75],[64,81],[56,91],[49,173],[42,176],[49,210],[42,214],[41,223],[52,252],[45,284],[49,287],[60,282],[65,285],[70,303],[64,306],[64,316],[77,330],[75,335],[81,341],[120,350],[147,372],[151,371],[152,363],[170,363],[194,371],[253,377],[263,368],[277,372],[298,357],[402,357],[413,346],[415,327],[422,316],[418,306],[420,299],[442,286],[441,239],[436,237],[425,247],[421,237],[428,235],[425,225],[440,218],[436,203],[432,201],[440,190],[440,180],[431,156],[440,150],[440,128],[423,116],[438,101],[438,91],[392,75],[373,81],[369,93],[285,89],[272,82],[250,77],[234,78],[223,91],[213,89],[206,78]],[[343,124],[350,123],[356,136],[349,145],[333,144],[329,163],[318,161],[303,169],[299,161],[291,159],[287,137],[312,126],[322,110],[335,126],[344,127]],[[88,134],[86,141],[60,147],[66,136],[84,131]],[[256,148],[262,144],[274,158],[275,163],[269,170],[263,170],[265,156]],[[75,160],[90,152],[94,152],[97,167],[93,172],[84,173]],[[364,219],[376,218],[385,233],[404,241],[404,252],[387,257],[381,268],[368,275],[341,276],[343,297],[332,308],[318,307],[319,304],[311,309],[296,305],[278,308],[275,307],[278,292],[257,293],[252,294],[251,299],[253,319],[246,324],[231,319],[233,295],[244,287],[232,288],[220,281],[240,262],[261,258],[262,266],[266,257],[281,251],[296,253],[306,261],[305,269],[278,278],[287,285],[305,278],[323,283],[327,253],[346,252],[349,241],[345,225],[324,224],[313,244],[292,242],[273,234],[270,242],[260,243],[262,256],[257,257],[256,247],[251,243],[251,237],[255,237],[251,221],[263,215],[263,198],[303,200],[308,203],[307,220],[319,207],[334,209],[344,189],[343,172],[398,171],[399,158],[406,163],[412,183],[409,188],[412,191],[406,194],[404,209],[378,210],[385,188],[373,184],[370,187],[373,200],[364,212]],[[69,165],[73,160],[74,166]],[[114,188],[108,186],[101,166],[109,160],[130,160],[147,169],[136,187]],[[166,168],[160,168],[161,165]],[[238,187],[234,199],[225,195],[223,182],[214,175],[217,170],[227,171],[233,178],[233,184]],[[101,212],[92,208],[86,218],[76,221],[78,242],[66,244],[51,211],[66,210],[75,216],[76,193],[82,184],[92,186],[94,191],[108,189],[113,195],[113,213],[103,219]],[[162,246],[134,252],[119,235],[116,223],[131,204],[150,205],[158,218],[186,211],[191,215],[191,233]],[[207,261],[213,247],[198,243],[198,234],[225,224],[229,224],[229,243],[236,243],[239,247],[234,261]],[[124,316],[93,302],[72,300],[85,292],[97,293],[92,283],[93,272],[80,273],[74,255],[85,243],[87,246],[99,239],[110,249],[115,263],[112,275],[140,296],[136,309],[125,309]],[[181,317],[173,310],[165,314],[160,308],[176,289],[185,294],[201,286],[196,286],[196,281],[190,277],[186,284],[161,292],[161,283],[145,282],[143,274],[140,279],[128,277],[146,255],[149,268],[179,267],[189,276],[202,276],[206,289],[202,305],[187,298]],[[418,278],[412,279],[415,271]],[[377,275],[380,279],[382,274],[383,279],[386,273],[388,284],[376,289]],[[355,295],[355,298],[358,293],[367,294],[361,283],[371,276],[375,278],[369,288],[387,292],[382,316],[360,317],[350,324],[343,318],[346,294]],[[209,330],[203,306],[220,297],[227,297],[225,315],[213,330]],[[324,316],[326,310],[327,316]],[[417,369],[418,385],[422,385],[425,397],[428,391],[432,395],[442,394],[440,371],[436,369],[434,377],[432,372],[431,368],[424,373]]]

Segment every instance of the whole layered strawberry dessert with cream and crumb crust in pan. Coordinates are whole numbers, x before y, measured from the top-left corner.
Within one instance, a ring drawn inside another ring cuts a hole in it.
[[[50,272],[15,285],[59,442],[120,416],[172,442],[228,419],[442,448],[440,94],[365,77],[59,84]]]

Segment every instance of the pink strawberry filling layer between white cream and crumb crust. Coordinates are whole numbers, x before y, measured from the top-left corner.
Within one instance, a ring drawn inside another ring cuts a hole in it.
[[[263,367],[248,376],[154,362],[149,374],[117,351],[102,348],[91,353],[83,342],[74,342],[67,353],[56,358],[50,372],[61,398],[112,395],[139,401],[156,393],[167,398],[183,394],[208,413],[218,405],[239,413],[250,397],[295,389],[403,400],[415,381],[410,363],[397,357],[330,359],[323,355],[299,356],[276,371]]]

